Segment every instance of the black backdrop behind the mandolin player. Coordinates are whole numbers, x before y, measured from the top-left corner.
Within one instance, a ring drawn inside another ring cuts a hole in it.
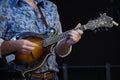
[[[86,24],[99,14],[107,13],[120,23],[119,0],[52,0],[58,6],[63,31],[77,23]],[[58,58],[59,66],[67,65],[68,80],[120,80],[120,26],[86,30],[73,46],[71,54]],[[107,74],[107,64],[110,67]],[[60,68],[60,78],[63,71]],[[63,80],[63,79],[61,79]]]

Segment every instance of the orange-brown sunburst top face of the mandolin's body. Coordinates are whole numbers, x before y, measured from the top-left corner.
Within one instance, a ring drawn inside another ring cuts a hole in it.
[[[38,44],[38,46],[35,47],[35,49],[31,53],[15,53],[15,60],[17,64],[32,65],[36,61],[40,61],[40,59],[49,54],[49,48],[42,46],[42,38],[29,37],[26,39]]]

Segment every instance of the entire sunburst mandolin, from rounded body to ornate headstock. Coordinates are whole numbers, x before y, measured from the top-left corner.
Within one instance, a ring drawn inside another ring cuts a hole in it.
[[[116,23],[113,18],[107,16],[106,13],[104,13],[100,14],[100,17],[97,19],[89,20],[87,24],[82,25],[80,28],[74,28],[74,30],[94,30],[99,27],[111,28],[113,25],[118,26],[118,23]],[[29,54],[13,53],[15,55],[15,62],[19,66],[17,70],[20,71],[23,76],[29,72],[41,69],[49,56],[54,55],[50,52],[53,51],[55,44],[64,38],[68,38],[70,30],[65,31],[59,35],[57,35],[57,31],[54,28],[49,28],[49,31],[53,34],[50,37],[34,32],[23,32],[12,38],[12,40],[27,39],[33,43],[38,44],[38,46]]]

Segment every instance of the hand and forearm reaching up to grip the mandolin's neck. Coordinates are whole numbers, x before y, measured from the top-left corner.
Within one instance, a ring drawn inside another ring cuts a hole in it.
[[[81,24],[78,24],[75,28],[79,28],[79,27],[81,27]],[[71,30],[69,32],[70,37],[61,40],[60,43],[55,48],[55,52],[60,56],[64,56],[64,55],[66,56],[66,54],[68,55],[69,54],[68,52],[70,51],[71,46],[77,43],[81,39],[82,34],[83,34],[83,31],[80,29]]]

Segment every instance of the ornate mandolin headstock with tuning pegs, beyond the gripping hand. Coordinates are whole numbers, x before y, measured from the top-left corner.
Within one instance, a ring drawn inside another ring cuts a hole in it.
[[[100,14],[100,17],[97,19],[88,21],[85,27],[86,29],[94,30],[99,27],[111,28],[113,25],[118,26],[118,23],[116,23],[112,17],[109,17],[106,15],[106,13],[104,13]]]

